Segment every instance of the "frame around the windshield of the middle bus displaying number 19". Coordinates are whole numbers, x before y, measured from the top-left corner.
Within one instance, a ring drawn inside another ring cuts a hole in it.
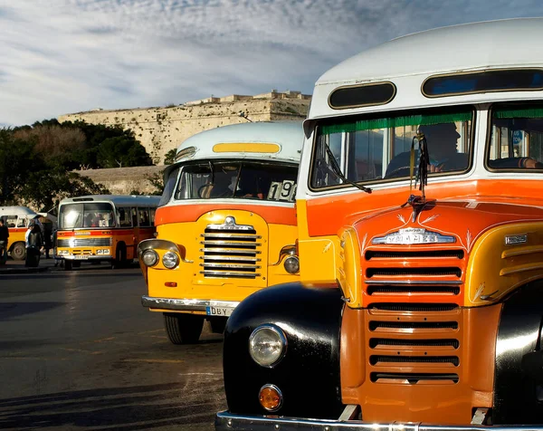
[[[170,199],[168,203],[175,203],[176,205],[179,204],[194,204],[195,202],[206,202],[206,203],[213,203],[218,201],[224,201],[227,200],[229,202],[236,202],[236,203],[259,203],[259,204],[266,204],[266,205],[276,205],[276,204],[289,204],[293,205],[295,203],[295,196],[296,193],[292,194],[291,200],[285,200],[285,199],[268,199],[266,196],[264,198],[255,198],[255,197],[243,197],[243,196],[223,196],[223,197],[192,197],[192,198],[177,198],[176,195],[178,193],[178,189],[180,187],[181,181],[183,179],[183,173],[184,169],[192,166],[201,166],[206,167],[209,166],[209,164],[212,164],[214,168],[214,175],[216,175],[216,170],[219,164],[230,164],[230,165],[239,165],[240,167],[243,167],[243,164],[251,164],[251,165],[260,165],[260,166],[270,166],[270,167],[284,167],[284,168],[291,168],[296,171],[295,176],[293,178],[294,181],[294,187],[298,187],[298,177],[300,172],[300,163],[297,162],[290,162],[286,160],[275,160],[275,159],[254,159],[254,158],[203,158],[203,159],[192,159],[188,160],[178,166],[179,170],[176,175],[176,186],[173,189],[173,192],[170,196]],[[241,169],[243,172],[243,168]],[[236,185],[239,183],[239,175],[240,175],[240,169],[237,169],[237,180]],[[268,192],[269,193],[269,192]]]

